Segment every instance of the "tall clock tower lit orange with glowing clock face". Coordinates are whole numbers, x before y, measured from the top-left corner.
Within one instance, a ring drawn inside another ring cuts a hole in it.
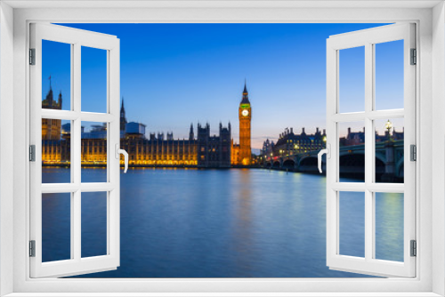
[[[250,148],[250,122],[252,120],[252,108],[246,83],[244,83],[243,99],[239,103],[239,161],[242,165],[250,165],[252,151]]]

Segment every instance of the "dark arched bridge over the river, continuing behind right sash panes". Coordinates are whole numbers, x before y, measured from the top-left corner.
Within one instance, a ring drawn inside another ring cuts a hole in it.
[[[386,181],[403,179],[403,140],[381,141],[376,143],[376,176]],[[297,173],[319,173],[318,154],[320,149],[307,153],[261,157],[263,168],[293,171]],[[365,145],[340,147],[340,174],[359,177],[364,174]],[[326,173],[326,155],[322,159]]]

